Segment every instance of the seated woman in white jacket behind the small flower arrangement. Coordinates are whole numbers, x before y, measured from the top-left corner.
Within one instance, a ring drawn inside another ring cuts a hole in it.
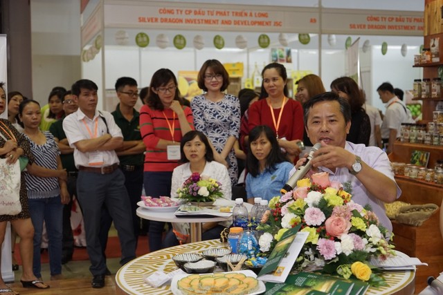
[[[181,164],[172,172],[171,198],[177,198],[177,189],[181,188],[192,173],[208,176],[221,183],[223,198],[230,200],[231,187],[228,169],[224,164],[215,162],[213,149],[211,149],[208,138],[200,131],[189,131],[183,135],[180,144]],[[226,222],[206,222],[201,229],[201,240],[213,240],[220,238],[220,233],[229,225]],[[174,232],[171,230],[166,234],[163,247],[179,245]]]

